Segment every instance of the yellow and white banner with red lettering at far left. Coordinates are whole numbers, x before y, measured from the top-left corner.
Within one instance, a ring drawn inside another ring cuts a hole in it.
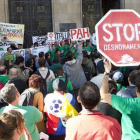
[[[23,44],[24,25],[0,23],[0,47],[9,46],[11,43]]]

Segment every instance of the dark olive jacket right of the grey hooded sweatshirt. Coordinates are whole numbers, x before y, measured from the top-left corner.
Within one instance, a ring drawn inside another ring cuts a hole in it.
[[[91,79],[93,77],[93,75],[95,74],[95,68],[94,68],[93,62],[90,59],[88,59],[86,57],[83,57],[82,64],[89,67],[89,69],[90,69],[90,79]]]

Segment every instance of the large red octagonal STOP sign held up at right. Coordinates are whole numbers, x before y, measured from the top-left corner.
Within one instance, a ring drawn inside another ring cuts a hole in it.
[[[110,10],[96,25],[98,51],[115,66],[140,63],[140,15],[134,10]]]

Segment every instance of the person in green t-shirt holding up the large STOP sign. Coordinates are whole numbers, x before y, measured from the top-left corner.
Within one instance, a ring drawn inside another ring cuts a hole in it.
[[[102,99],[122,114],[122,140],[140,139],[140,72],[135,80],[136,98],[123,98],[108,93],[108,80],[111,63],[104,61],[106,74],[100,88]]]

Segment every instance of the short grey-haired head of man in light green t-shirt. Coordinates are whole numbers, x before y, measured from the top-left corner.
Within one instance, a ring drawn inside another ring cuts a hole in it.
[[[18,102],[20,94],[14,84],[6,84],[0,91],[2,99],[8,103]]]

